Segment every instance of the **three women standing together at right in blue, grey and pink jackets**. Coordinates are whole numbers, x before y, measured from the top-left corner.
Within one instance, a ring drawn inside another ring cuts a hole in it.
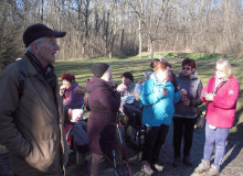
[[[240,92],[240,86],[232,74],[230,62],[226,58],[215,62],[214,76],[210,78],[204,88],[198,78],[196,62],[191,58],[182,61],[178,77],[175,76],[171,65],[163,57],[154,59],[150,67],[152,73],[142,82],[139,97],[140,103],[144,106],[142,124],[146,127],[141,169],[147,175],[152,175],[155,169],[162,172],[163,166],[160,164],[159,153],[171,122],[173,122],[175,154],[172,166],[177,167],[181,162],[182,138],[182,163],[186,166],[192,166],[190,150],[199,114],[198,107],[205,102],[203,160],[194,172],[219,175],[225,152],[225,141],[234,122]],[[214,148],[214,162],[210,165]]]

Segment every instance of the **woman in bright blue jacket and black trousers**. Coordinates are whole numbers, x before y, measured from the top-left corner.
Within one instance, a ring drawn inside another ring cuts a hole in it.
[[[154,73],[142,84],[140,102],[144,105],[142,124],[146,125],[142,146],[141,169],[152,175],[155,168],[162,172],[159,164],[159,152],[166,141],[169,125],[175,112],[173,103],[181,99],[180,92],[175,92],[173,85],[168,80],[168,63],[165,59],[154,59]]]

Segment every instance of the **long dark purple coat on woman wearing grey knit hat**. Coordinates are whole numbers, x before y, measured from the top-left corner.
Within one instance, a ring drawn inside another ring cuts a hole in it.
[[[116,116],[120,95],[105,80],[93,77],[86,81],[91,113],[87,134],[92,153],[105,154],[116,148]]]

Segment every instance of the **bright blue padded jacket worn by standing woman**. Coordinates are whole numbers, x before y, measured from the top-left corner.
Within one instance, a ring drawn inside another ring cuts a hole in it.
[[[168,89],[166,97],[161,94],[165,87]],[[175,92],[175,87],[169,80],[161,84],[157,80],[155,73],[152,73],[141,87],[142,124],[147,127],[170,125],[175,113],[173,103],[180,99],[180,92]]]

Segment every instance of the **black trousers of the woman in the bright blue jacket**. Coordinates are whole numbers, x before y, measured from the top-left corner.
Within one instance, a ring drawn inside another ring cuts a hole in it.
[[[141,161],[147,161],[150,164],[159,162],[159,152],[166,142],[168,131],[169,125],[165,124],[160,127],[147,127]]]

